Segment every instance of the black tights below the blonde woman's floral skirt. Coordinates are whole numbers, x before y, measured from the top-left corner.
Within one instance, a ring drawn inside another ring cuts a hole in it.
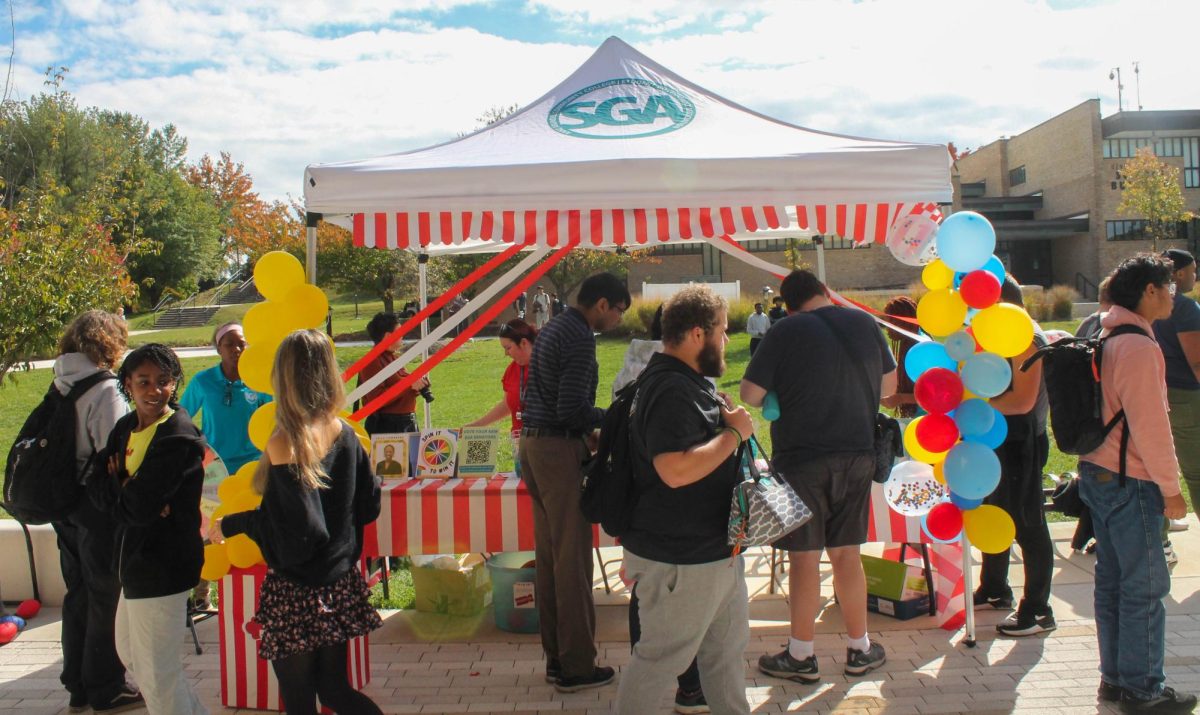
[[[346,643],[272,660],[288,715],[317,715],[320,704],[337,715],[383,715],[371,698],[350,687]]]

